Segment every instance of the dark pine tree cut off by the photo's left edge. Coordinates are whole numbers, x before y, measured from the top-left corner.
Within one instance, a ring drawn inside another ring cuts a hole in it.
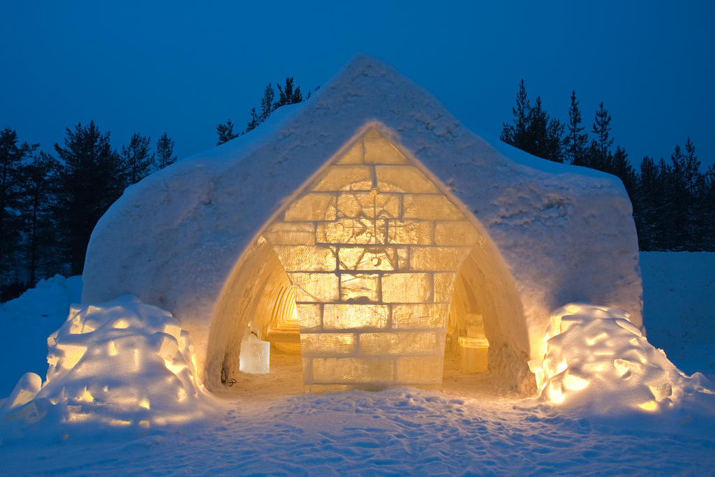
[[[38,146],[18,141],[14,130],[0,132],[0,285],[17,280],[11,274],[16,272],[21,245],[22,163]]]

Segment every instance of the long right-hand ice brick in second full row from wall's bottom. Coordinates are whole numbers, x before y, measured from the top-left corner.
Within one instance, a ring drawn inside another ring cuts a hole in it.
[[[435,331],[415,331],[402,333],[362,333],[360,334],[360,354],[435,354],[442,341]]]

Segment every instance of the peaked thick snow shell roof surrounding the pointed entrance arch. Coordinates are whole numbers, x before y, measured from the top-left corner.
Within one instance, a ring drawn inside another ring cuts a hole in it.
[[[242,253],[369,123],[383,125],[483,227],[521,297],[528,355],[543,355],[549,314],[565,303],[623,308],[641,325],[636,230],[616,177],[487,142],[363,55],[253,132],[129,187],[92,233],[83,302],[132,293],[171,311],[202,368],[217,300]]]

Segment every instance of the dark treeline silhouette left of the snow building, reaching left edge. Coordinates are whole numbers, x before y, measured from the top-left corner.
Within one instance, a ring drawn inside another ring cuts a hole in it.
[[[66,128],[54,153],[0,132],[0,301],[40,278],[78,275],[94,225],[124,189],[176,161],[174,141],[132,134],[117,150],[94,122]]]

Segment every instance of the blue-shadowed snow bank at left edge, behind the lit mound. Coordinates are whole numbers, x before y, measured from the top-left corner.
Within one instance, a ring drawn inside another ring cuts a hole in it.
[[[47,336],[67,319],[69,304],[81,297],[82,277],[55,275],[0,303],[0,398],[10,394],[26,371],[45,375]]]

